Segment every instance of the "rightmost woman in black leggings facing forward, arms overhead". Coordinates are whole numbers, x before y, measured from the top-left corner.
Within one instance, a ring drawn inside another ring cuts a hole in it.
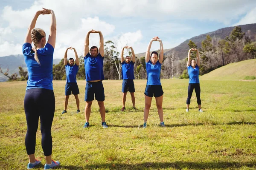
[[[196,51],[196,61],[195,59],[190,58],[190,53],[191,51]],[[189,73],[189,87],[188,87],[188,98],[186,100],[186,112],[189,112],[189,104],[190,104],[190,99],[193,93],[193,90],[195,88],[195,94],[197,98],[197,103],[198,103],[198,111],[203,112],[201,109],[201,99],[200,99],[200,83],[199,83],[199,66],[200,66],[200,56],[198,49],[196,48],[191,48],[189,49],[189,54],[188,54],[188,73]]]

